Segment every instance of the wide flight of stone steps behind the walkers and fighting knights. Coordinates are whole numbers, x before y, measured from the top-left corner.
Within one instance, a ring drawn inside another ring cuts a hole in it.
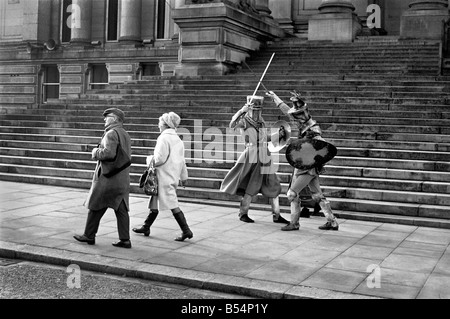
[[[142,194],[137,183],[159,135],[158,117],[174,111],[182,117],[190,175],[179,196],[237,207],[238,197],[219,191],[243,149],[227,126],[272,53],[264,86],[285,101],[290,90],[301,92],[324,137],[338,147],[321,182],[339,217],[450,228],[450,78],[439,75],[439,44],[396,38],[282,40],[251,57],[251,70],[233,75],[151,77],[80,99],[2,108],[0,179],[88,188],[101,114],[115,106],[127,114],[132,191]],[[269,101],[264,118],[269,125],[287,119]],[[285,193],[292,168],[276,155]],[[281,204],[288,212],[284,195]],[[269,209],[261,196],[252,207]]]

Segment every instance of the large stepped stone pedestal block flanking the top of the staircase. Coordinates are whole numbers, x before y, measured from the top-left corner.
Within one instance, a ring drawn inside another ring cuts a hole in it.
[[[273,19],[225,3],[179,7],[173,19],[180,28],[176,76],[233,73],[261,44],[285,36]]]

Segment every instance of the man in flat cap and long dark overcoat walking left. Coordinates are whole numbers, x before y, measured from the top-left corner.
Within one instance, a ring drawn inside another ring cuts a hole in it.
[[[117,218],[119,241],[113,246],[131,248],[130,241],[130,167],[127,166],[113,176],[106,177],[102,172],[102,162],[116,158],[118,146],[131,160],[131,140],[123,128],[125,114],[117,108],[109,108],[103,112],[105,132],[101,143],[92,150],[92,159],[97,160],[91,189],[84,206],[89,209],[83,235],[74,238],[89,245],[95,244],[100,220],[108,208],[112,208]],[[130,162],[131,163],[131,162]]]

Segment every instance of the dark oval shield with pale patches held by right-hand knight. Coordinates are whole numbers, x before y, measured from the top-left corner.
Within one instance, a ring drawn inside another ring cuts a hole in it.
[[[323,166],[336,154],[333,144],[316,139],[294,139],[286,149],[288,163],[301,170]]]

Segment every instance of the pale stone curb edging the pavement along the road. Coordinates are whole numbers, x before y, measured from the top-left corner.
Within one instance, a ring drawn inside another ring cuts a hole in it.
[[[81,269],[117,276],[140,278],[191,288],[238,294],[262,299],[379,299],[339,291],[276,283],[245,277],[206,273],[172,266],[142,263],[68,250],[0,241],[0,257]]]

